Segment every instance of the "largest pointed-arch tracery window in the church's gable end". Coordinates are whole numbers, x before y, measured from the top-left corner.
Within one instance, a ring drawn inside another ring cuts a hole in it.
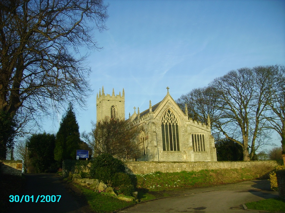
[[[170,109],[162,116],[161,130],[163,151],[180,151],[178,122]]]

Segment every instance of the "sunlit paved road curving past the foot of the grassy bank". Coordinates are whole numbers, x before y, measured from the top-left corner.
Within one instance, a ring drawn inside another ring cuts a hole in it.
[[[179,193],[186,195],[177,196]],[[248,212],[242,207],[246,202],[278,197],[270,191],[269,181],[257,180],[219,185],[200,189],[174,191],[174,197],[148,201],[119,212],[172,213],[172,212]],[[250,211],[259,212],[259,211]]]

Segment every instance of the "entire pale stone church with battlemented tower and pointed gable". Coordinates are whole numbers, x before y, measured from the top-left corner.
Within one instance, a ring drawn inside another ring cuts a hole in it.
[[[142,158],[138,161],[217,161],[210,120],[207,125],[188,118],[170,96],[140,112],[139,107],[129,119],[141,126]],[[97,122],[105,116],[125,118],[125,91],[105,94],[104,87],[97,93]]]

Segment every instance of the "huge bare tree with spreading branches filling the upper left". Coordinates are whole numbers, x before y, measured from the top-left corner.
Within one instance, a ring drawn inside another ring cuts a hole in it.
[[[106,29],[107,6],[102,0],[1,1],[0,110],[24,125],[66,103],[84,106],[90,68],[78,48],[100,49],[93,30]]]

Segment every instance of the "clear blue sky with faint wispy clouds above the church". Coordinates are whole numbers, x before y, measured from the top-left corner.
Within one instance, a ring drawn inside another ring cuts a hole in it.
[[[80,132],[96,121],[96,94],[125,89],[125,115],[174,100],[230,70],[285,64],[285,1],[117,0],[109,3],[109,30],[95,32],[103,47],[91,52],[87,110],[76,112]],[[83,49],[83,52],[86,50]],[[61,119],[61,115],[58,115]],[[58,122],[44,130],[58,131]],[[279,145],[280,142],[278,142]]]

